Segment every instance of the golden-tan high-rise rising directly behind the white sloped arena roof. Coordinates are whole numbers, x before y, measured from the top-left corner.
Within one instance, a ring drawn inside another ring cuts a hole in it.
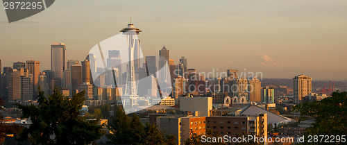
[[[261,101],[261,82],[259,79],[253,77],[252,80],[249,80],[248,85],[248,100],[253,102],[260,102]]]

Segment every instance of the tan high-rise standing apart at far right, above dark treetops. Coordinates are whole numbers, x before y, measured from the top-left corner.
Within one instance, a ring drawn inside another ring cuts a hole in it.
[[[301,100],[312,93],[312,78],[303,74],[295,76],[294,80],[294,103],[301,103]]]

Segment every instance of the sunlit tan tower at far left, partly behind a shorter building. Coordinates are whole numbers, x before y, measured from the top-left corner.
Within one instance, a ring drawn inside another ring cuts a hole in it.
[[[26,68],[28,68],[29,74],[33,74],[33,99],[37,96],[37,82],[40,75],[40,61],[26,60]]]

